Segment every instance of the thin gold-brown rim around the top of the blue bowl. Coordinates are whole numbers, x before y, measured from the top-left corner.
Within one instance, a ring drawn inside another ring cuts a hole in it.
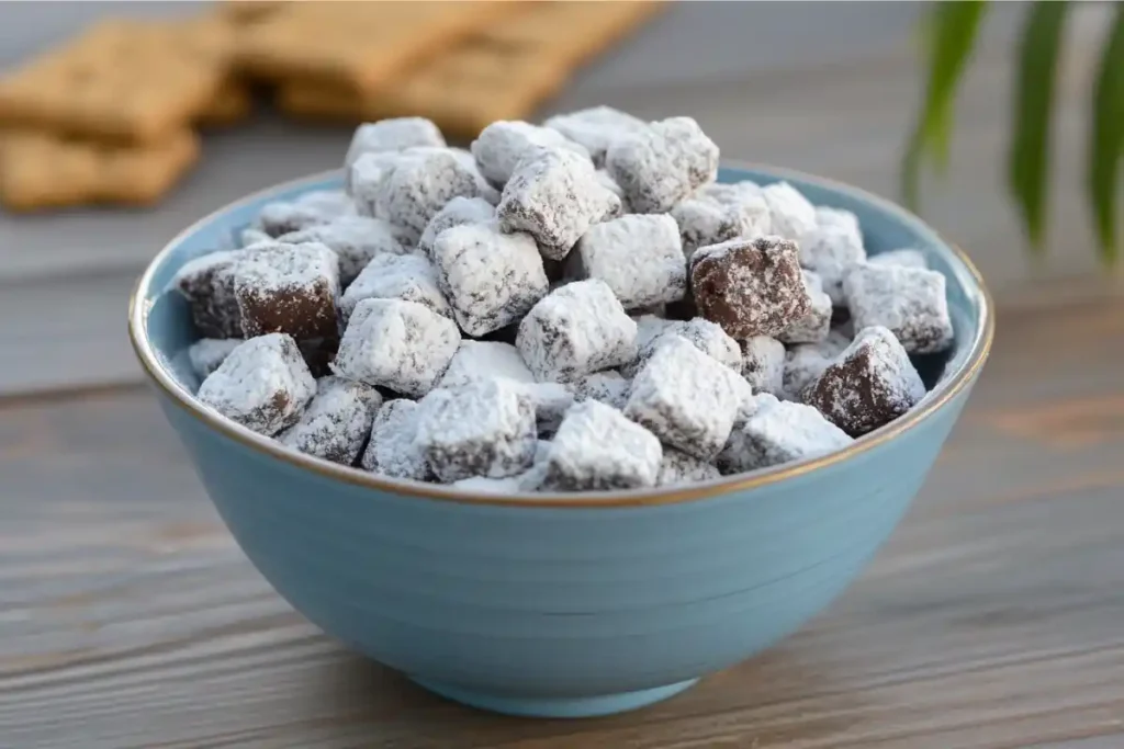
[[[218,431],[220,435],[233,439],[245,447],[264,454],[268,457],[275,458],[300,469],[309,471],[321,477],[342,481],[347,484],[391,494],[442,502],[454,502],[460,504],[505,505],[540,509],[611,509],[623,506],[677,504],[707,500],[735,492],[744,492],[747,490],[769,486],[788,478],[803,476],[819,468],[826,468],[837,463],[849,460],[856,455],[873,449],[874,447],[878,447],[879,445],[882,445],[883,442],[914,429],[932,418],[933,414],[940,411],[973,381],[976,375],[982,368],[984,363],[987,360],[991,350],[991,344],[995,338],[995,303],[979,270],[959,246],[946,241],[935,229],[897,203],[843,182],[807,174],[797,170],[753,162],[727,161],[722,163],[722,167],[769,172],[780,180],[792,179],[818,184],[836,192],[850,193],[852,197],[874,204],[883,212],[894,214],[899,220],[912,225],[921,231],[932,235],[933,238],[946,247],[949,252],[963,264],[968,271],[968,275],[976,285],[975,290],[969,291],[973,291],[978,298],[978,322],[972,332],[972,340],[968,356],[964,357],[957,371],[951,373],[950,376],[944,377],[932,391],[926,394],[925,401],[927,402],[922,402],[918,408],[915,408],[905,415],[867,435],[863,435],[842,450],[835,450],[818,457],[786,463],[774,467],[760,468],[758,471],[737,474],[734,476],[723,476],[722,478],[670,486],[668,488],[653,487],[580,493],[523,492],[518,494],[464,492],[444,484],[427,484],[409,479],[383,477],[360,468],[343,466],[321,458],[315,458],[297,450],[291,450],[270,437],[259,435],[242,424],[220,417],[218,413],[200,403],[192,393],[188,392],[179,382],[176,382],[174,377],[172,377],[166,368],[160,363],[158,357],[148,341],[147,321],[148,313],[152,309],[152,304],[148,302],[148,293],[156,270],[163,265],[166,256],[187,237],[199,231],[206,225],[217,220],[224,213],[244,208],[251,203],[269,200],[275,194],[292,191],[301,185],[312,185],[318,182],[330,180],[339,174],[339,170],[328,170],[317,174],[309,174],[259,190],[241,198],[239,200],[227,203],[215,211],[211,211],[176,234],[164,245],[164,247],[161,248],[158,253],[156,253],[152,261],[148,262],[148,265],[142,272],[133,289],[133,293],[129,298],[128,312],[129,341],[133,345],[133,350],[136,354],[137,359],[140,362],[140,366],[145,374],[176,407],[200,421],[203,426]]]

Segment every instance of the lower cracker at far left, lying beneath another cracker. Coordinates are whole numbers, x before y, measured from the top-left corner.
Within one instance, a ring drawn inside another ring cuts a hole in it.
[[[0,202],[13,211],[96,203],[147,205],[196,163],[190,130],[143,146],[33,131],[0,134]]]

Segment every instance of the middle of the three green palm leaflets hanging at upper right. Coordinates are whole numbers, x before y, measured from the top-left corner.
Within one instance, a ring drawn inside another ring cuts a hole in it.
[[[1019,48],[1008,185],[1023,213],[1031,246],[1041,252],[1050,167],[1050,110],[1066,2],[1040,0],[1031,8]]]

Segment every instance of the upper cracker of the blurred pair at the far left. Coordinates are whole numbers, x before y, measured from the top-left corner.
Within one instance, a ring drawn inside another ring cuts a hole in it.
[[[228,27],[111,20],[0,80],[0,125],[165,141],[227,79]]]

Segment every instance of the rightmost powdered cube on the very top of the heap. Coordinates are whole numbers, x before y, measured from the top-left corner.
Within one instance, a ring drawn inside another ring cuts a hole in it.
[[[690,117],[672,117],[623,134],[605,167],[632,210],[667,213],[718,174],[718,146]]]

